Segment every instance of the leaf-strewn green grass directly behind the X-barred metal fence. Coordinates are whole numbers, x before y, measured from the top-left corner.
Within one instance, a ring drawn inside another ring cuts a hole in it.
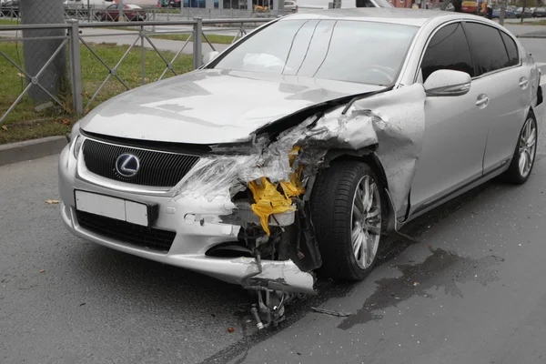
[[[96,53],[101,56],[106,65],[116,66],[119,59],[125,54],[128,45],[91,45]],[[134,48],[125,58],[121,66],[117,68],[117,75],[123,79],[126,84],[134,88],[142,84],[141,75],[141,48]],[[0,51],[12,58],[15,62],[24,62],[23,46],[19,43],[1,42]],[[108,70],[103,66],[95,56],[81,45],[81,63],[82,63],[82,87],[84,106],[87,105],[91,97],[95,94],[98,87],[103,83]],[[162,55],[171,61],[175,56],[171,52],[162,52]],[[165,63],[153,50],[145,50],[145,82],[157,81],[165,69]],[[180,55],[173,67],[177,74],[190,71],[193,66],[192,56]],[[168,72],[164,78],[173,76]],[[26,86],[25,76],[21,75],[15,66],[8,63],[4,57],[0,56],[0,116],[13,104],[16,97],[19,96]],[[112,96],[116,96],[126,91],[114,76],[106,82],[95,101],[86,108],[89,112],[93,107],[106,101]],[[32,139],[35,137],[65,135],[70,126],[76,121],[76,116],[69,111],[71,106],[71,97],[69,93],[61,97],[61,101],[66,105],[63,107],[55,106],[42,111],[35,111],[35,106],[42,103],[35,103],[27,96],[15,106],[15,109],[7,116],[4,124],[0,126],[0,144],[11,143],[20,140]],[[4,127],[5,126],[5,127]]]

